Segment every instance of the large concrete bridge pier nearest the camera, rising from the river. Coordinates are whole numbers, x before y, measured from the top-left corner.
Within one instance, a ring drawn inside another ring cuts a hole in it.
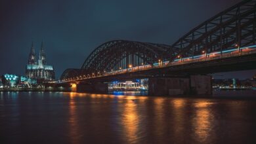
[[[150,78],[148,80],[148,94],[149,96],[211,95],[211,76]]]

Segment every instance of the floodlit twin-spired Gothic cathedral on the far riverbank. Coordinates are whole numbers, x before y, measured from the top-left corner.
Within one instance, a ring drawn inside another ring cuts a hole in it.
[[[35,48],[32,43],[30,50],[30,56],[28,58],[28,64],[26,65],[26,76],[30,79],[35,79],[37,82],[54,81],[55,73],[52,65],[47,65],[46,54],[44,50],[44,45],[42,42],[39,59],[37,62],[37,56],[35,54]]]

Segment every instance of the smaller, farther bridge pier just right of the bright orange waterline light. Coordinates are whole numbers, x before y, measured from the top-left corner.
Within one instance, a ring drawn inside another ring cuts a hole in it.
[[[76,92],[108,93],[108,84],[102,82],[79,83],[76,85]]]

